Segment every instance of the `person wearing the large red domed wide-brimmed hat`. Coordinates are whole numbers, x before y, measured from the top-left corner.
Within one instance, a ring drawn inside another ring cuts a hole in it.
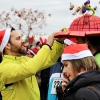
[[[89,0],[87,0],[88,2]],[[95,19],[95,20],[94,20]],[[70,27],[65,29],[66,37],[75,37],[78,44],[86,43],[100,66],[100,18],[88,13],[76,18]],[[77,24],[76,24],[77,23]],[[96,23],[96,24],[95,24]],[[65,33],[64,33],[65,34]]]

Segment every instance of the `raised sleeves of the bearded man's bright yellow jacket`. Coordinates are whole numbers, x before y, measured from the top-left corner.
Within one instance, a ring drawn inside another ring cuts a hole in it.
[[[36,56],[28,58],[25,56],[10,59],[4,57],[0,65],[0,74],[5,84],[14,83],[35,75],[37,71],[50,67],[62,54],[63,45],[54,42],[52,50],[44,45]]]

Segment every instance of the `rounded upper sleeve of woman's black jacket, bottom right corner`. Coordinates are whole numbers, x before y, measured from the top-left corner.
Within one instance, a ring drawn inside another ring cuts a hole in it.
[[[74,100],[100,100],[100,93],[98,93],[90,88],[81,88],[75,93]]]

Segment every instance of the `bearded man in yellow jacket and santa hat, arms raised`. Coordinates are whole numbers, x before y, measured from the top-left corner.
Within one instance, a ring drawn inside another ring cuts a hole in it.
[[[2,100],[40,100],[36,72],[53,65],[63,51],[63,39],[54,40],[55,33],[48,37],[34,58],[23,56],[26,53],[24,41],[15,29],[0,31],[0,84],[11,84],[1,90]]]

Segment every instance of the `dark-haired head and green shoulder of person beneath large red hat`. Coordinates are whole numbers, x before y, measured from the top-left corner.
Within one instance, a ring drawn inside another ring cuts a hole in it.
[[[77,43],[87,43],[98,65],[100,66],[100,36],[76,37]]]

